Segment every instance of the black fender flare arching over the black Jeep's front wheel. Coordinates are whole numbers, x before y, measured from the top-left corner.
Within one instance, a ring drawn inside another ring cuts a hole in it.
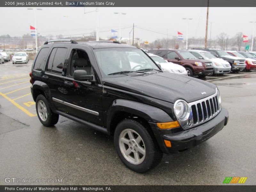
[[[110,131],[110,126],[115,114],[124,111],[144,118],[149,123],[170,122],[173,119],[162,109],[151,105],[140,103],[132,100],[116,99],[108,111],[107,129]]]

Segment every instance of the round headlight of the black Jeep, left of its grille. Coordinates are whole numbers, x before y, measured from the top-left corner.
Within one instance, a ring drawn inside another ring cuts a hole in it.
[[[177,100],[174,103],[174,113],[177,119],[182,121],[187,120],[190,113],[188,103],[184,100]]]

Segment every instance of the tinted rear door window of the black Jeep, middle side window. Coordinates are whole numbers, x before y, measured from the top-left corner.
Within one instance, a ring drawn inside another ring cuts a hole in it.
[[[47,71],[61,74],[67,51],[67,48],[53,48],[49,58]]]

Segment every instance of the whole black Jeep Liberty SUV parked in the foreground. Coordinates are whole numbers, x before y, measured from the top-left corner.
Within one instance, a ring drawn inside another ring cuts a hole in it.
[[[163,72],[126,44],[48,41],[30,76],[43,125],[61,115],[113,135],[118,156],[136,172],[156,166],[163,153],[200,144],[228,122],[214,84]]]

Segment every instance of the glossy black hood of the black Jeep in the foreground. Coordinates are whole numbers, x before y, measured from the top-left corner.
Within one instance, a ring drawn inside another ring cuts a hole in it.
[[[171,103],[177,99],[192,102],[216,92],[214,84],[174,73],[105,78],[104,85]]]

